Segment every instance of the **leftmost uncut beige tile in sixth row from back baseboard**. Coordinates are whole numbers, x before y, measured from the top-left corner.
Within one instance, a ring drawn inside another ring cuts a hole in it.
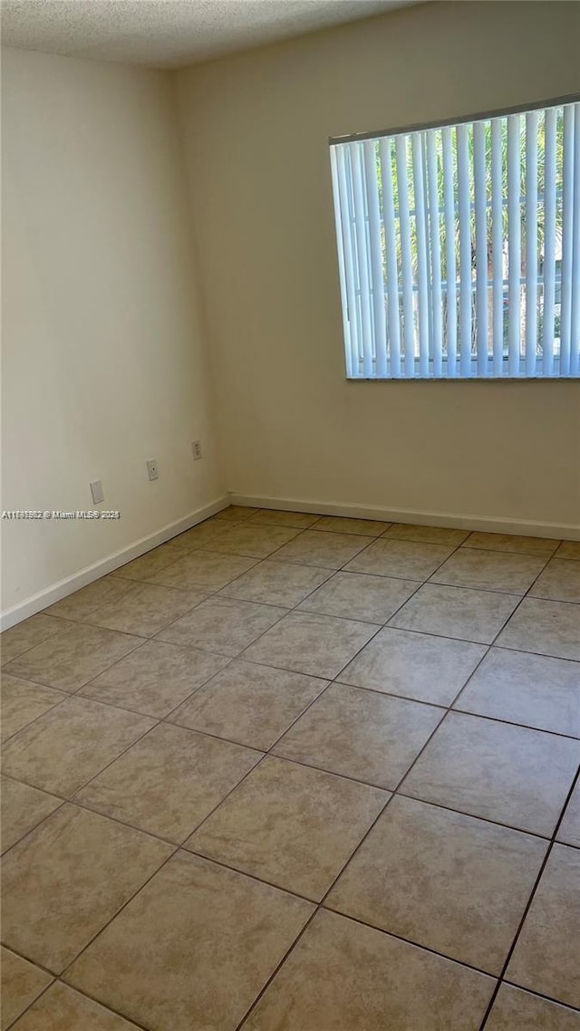
[[[75,800],[179,843],[259,762],[260,752],[160,724]]]

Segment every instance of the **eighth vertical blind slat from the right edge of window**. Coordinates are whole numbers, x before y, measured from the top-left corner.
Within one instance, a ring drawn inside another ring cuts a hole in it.
[[[472,374],[472,212],[470,137],[466,125],[457,126],[457,204],[459,208],[459,350],[462,376]]]

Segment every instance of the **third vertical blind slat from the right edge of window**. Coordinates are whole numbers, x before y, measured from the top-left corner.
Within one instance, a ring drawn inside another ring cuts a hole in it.
[[[556,297],[556,111],[546,111],[544,126],[544,308],[542,357],[544,375],[554,368],[554,304]]]

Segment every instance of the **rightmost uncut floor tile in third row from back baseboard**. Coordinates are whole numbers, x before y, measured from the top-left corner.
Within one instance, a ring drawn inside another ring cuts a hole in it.
[[[520,601],[513,594],[424,584],[390,626],[490,644]]]

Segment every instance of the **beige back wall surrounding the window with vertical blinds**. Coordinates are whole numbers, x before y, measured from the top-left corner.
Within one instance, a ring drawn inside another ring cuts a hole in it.
[[[577,92],[578,3],[432,3],[179,75],[228,488],[578,524],[573,383],[346,383],[327,137]]]

